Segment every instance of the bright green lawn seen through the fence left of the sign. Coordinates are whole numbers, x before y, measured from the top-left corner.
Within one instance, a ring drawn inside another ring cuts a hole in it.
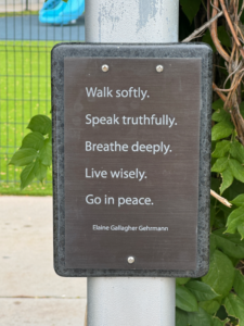
[[[25,13],[9,13],[12,16],[8,20],[14,18],[16,14]],[[0,41],[1,195],[52,195],[51,168],[48,170],[43,185],[34,181],[21,191],[18,180],[22,167],[7,166],[7,163],[20,147],[22,138],[29,133],[26,125],[31,116],[36,114],[51,116],[49,114],[51,108],[50,53],[54,45],[55,41]]]

